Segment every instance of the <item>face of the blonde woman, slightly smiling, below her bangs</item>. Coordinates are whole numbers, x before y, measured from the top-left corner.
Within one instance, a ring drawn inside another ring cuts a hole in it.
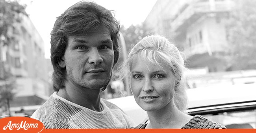
[[[131,89],[145,111],[173,106],[175,77],[170,69],[135,58],[131,66]]]

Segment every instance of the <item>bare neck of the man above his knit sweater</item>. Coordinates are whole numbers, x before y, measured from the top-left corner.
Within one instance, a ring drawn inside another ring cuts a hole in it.
[[[59,89],[57,95],[85,108],[102,111],[100,108],[100,92],[100,89],[66,87]]]

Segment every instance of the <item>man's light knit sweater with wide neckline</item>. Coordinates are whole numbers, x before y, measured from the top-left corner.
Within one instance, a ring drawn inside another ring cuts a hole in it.
[[[115,104],[100,99],[102,111],[97,112],[67,101],[54,92],[31,118],[40,120],[45,128],[132,128],[133,120]]]

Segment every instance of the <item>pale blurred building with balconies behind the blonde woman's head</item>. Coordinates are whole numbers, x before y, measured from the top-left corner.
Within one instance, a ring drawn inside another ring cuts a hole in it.
[[[228,47],[225,18],[233,6],[232,0],[158,0],[144,23],[177,43],[189,67],[223,71]]]

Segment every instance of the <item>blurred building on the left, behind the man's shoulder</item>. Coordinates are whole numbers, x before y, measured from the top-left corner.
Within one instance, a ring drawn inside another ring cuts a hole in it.
[[[8,27],[13,42],[0,49],[1,61],[16,79],[15,98],[11,107],[42,104],[49,95],[49,76],[44,41],[28,16]]]

